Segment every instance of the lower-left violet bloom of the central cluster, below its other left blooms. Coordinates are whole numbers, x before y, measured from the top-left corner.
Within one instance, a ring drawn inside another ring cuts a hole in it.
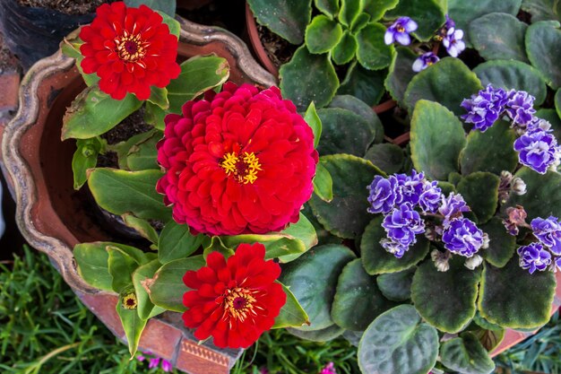
[[[409,247],[417,242],[415,235],[425,232],[425,222],[410,203],[402,203],[384,217],[382,222],[390,240]]]

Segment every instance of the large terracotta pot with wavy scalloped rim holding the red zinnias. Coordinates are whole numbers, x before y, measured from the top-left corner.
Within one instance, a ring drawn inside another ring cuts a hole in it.
[[[271,86],[274,77],[259,66],[246,45],[228,31],[183,19],[180,58],[215,53],[231,67],[236,83]],[[115,240],[89,213],[83,191],[73,190],[73,141],[61,142],[65,109],[85,87],[74,60],[59,51],[39,60],[22,80],[20,109],[6,126],[2,139],[5,169],[15,191],[16,221],[30,245],[46,253],[82,301],[121,339],[125,338],[115,307],[117,296],[91,288],[76,271],[72,248],[95,240]],[[118,240],[117,240],[118,241]],[[190,373],[228,373],[239,350],[198,345],[183,328],[178,313],[152,318],[141,339],[150,350],[174,367]]]

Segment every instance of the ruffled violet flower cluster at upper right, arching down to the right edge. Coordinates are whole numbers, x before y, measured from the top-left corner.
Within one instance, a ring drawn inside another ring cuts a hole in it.
[[[491,84],[462,101],[462,108],[468,111],[462,115],[466,123],[485,132],[501,117],[508,117],[520,135],[514,141],[518,161],[532,170],[545,174],[548,169],[555,170],[561,157],[557,139],[551,135],[548,121],[534,117],[535,98],[526,91],[505,91]]]

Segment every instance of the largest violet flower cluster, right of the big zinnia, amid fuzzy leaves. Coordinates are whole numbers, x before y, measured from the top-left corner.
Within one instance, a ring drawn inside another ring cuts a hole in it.
[[[428,181],[422,172],[412,170],[410,176],[394,174],[388,178],[375,176],[368,190],[368,212],[384,214],[382,227],[386,238],[380,244],[395,257],[403,257],[417,242],[416,236],[427,232],[421,218],[427,214],[442,219],[434,231],[442,235],[444,248],[452,253],[472,257],[488,242],[483,231],[463,217],[463,212],[470,211],[463,197],[453,193],[444,196],[437,182]]]

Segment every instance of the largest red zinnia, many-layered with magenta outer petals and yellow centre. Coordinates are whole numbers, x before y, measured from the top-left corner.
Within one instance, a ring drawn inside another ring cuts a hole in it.
[[[276,87],[226,83],[166,117],[157,189],[177,222],[212,235],[267,233],[298,222],[312,195],[314,134]]]

